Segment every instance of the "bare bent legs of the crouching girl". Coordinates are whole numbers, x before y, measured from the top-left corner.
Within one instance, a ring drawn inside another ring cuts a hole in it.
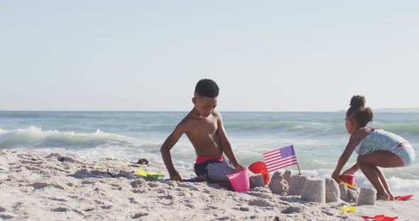
[[[385,183],[384,185],[387,188],[384,188],[383,184],[380,182],[379,174],[382,174],[381,171],[378,171],[377,166],[380,167],[398,167],[403,166],[403,162],[396,154],[392,152],[379,150],[373,152],[372,154],[359,155],[357,159],[357,164],[359,169],[364,173],[366,178],[371,182],[372,186],[376,188],[377,199],[378,200],[388,200],[390,196],[386,193],[388,189],[387,183],[383,177]]]

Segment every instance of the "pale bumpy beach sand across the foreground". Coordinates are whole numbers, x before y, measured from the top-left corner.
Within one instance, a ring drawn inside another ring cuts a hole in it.
[[[168,178],[163,166],[124,159],[0,149],[0,220],[363,220],[382,214],[419,220],[416,198],[310,203],[263,187],[235,193],[205,182],[153,181],[136,176],[138,168]],[[340,215],[343,205],[358,210]]]

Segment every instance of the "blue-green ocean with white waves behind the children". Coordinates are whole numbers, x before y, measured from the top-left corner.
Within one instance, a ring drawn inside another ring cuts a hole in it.
[[[0,111],[0,149],[36,150],[163,164],[160,147],[187,112]],[[329,177],[349,140],[344,112],[222,112],[236,157],[249,166],[262,154],[294,145],[302,174]],[[371,127],[401,135],[419,153],[419,113],[375,113]],[[195,151],[184,135],[172,149],[177,169],[192,170]],[[352,154],[345,168],[352,166]],[[297,167],[290,166],[296,173]],[[419,193],[419,160],[383,169],[393,191]],[[357,172],[359,186],[371,186]]]

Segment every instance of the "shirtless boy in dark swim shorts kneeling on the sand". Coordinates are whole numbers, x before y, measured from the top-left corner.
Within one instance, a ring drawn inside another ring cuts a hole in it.
[[[215,111],[218,93],[219,88],[214,81],[198,81],[192,98],[194,108],[180,121],[161,146],[161,156],[170,174],[170,180],[182,181],[173,166],[170,149],[184,133],[197,154],[194,166],[197,176],[206,176],[209,181],[228,181],[227,174],[246,169],[237,161],[224,130],[221,115]],[[229,160],[224,159],[223,152]]]

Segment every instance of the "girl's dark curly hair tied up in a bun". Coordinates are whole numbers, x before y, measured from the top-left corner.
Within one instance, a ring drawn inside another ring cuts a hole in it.
[[[365,127],[374,119],[374,113],[371,108],[365,107],[365,98],[361,95],[355,95],[351,98],[347,111],[347,118],[354,118],[361,127]]]

